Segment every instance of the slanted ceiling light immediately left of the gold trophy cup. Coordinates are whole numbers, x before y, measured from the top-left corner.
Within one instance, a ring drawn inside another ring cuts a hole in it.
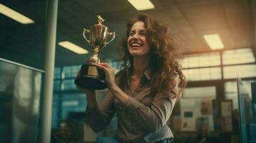
[[[69,49],[70,51],[74,51],[77,54],[87,54],[88,51],[86,49],[81,48],[75,44],[72,44],[70,41],[60,41],[58,43],[60,46],[63,46],[65,49]]]

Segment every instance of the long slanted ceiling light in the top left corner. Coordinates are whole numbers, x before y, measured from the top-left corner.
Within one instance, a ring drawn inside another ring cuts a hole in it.
[[[32,19],[29,19],[27,16],[19,14],[19,12],[16,12],[7,6],[4,6],[3,4],[0,4],[0,13],[22,24],[34,24],[34,21]]]

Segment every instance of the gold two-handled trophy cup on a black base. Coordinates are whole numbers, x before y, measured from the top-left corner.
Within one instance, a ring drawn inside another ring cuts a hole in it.
[[[99,69],[96,64],[100,63],[98,53],[104,46],[109,44],[115,39],[115,32],[108,31],[108,27],[103,25],[105,21],[101,16],[98,17],[98,24],[91,26],[91,31],[84,29],[82,36],[89,45],[93,46],[93,56],[82,64],[80,69],[80,76],[75,79],[75,84],[79,87],[87,89],[106,89],[107,83],[105,82],[105,73],[102,69]],[[90,34],[90,40],[86,38],[86,34]],[[112,36],[110,41],[108,38]]]

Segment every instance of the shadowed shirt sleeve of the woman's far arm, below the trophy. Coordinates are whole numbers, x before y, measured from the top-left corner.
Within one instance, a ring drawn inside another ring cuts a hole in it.
[[[110,124],[110,121],[115,114],[113,94],[108,91],[103,102],[95,108],[90,109],[87,107],[85,114],[87,124],[93,129],[93,132],[100,132],[103,130]]]

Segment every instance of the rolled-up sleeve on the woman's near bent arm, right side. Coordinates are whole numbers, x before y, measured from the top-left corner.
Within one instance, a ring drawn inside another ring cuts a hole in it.
[[[133,122],[146,132],[157,132],[171,116],[173,103],[169,94],[169,92],[157,93],[151,106],[146,106],[133,97],[129,97],[125,104],[125,112],[131,114]]]

